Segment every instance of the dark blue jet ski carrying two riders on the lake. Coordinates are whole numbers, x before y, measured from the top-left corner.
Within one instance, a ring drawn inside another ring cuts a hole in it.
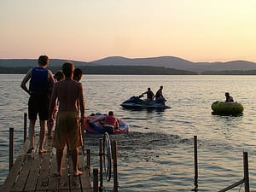
[[[165,109],[165,108],[171,108],[169,106],[166,106],[165,98],[162,99],[156,99],[152,102],[148,102],[147,100],[141,99],[143,96],[131,96],[130,99],[126,100],[125,102],[122,102],[120,106],[123,108],[157,108],[157,109]]]

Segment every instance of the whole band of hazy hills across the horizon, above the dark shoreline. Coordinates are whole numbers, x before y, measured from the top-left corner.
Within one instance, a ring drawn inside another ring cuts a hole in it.
[[[61,69],[64,61],[61,59],[51,59],[49,67]],[[73,61],[76,67],[100,67],[100,66],[126,66],[126,67],[166,67],[176,70],[190,71],[195,73],[215,74],[219,72],[246,74],[244,71],[255,71],[256,63],[250,61],[228,61],[228,62],[192,62],[183,60],[175,56],[160,56],[150,58],[125,58],[121,56],[111,56],[101,60],[83,62]],[[37,59],[0,59],[0,67],[35,67]],[[12,69],[10,69],[12,70]],[[252,73],[254,73],[254,71]],[[206,73],[207,72],[207,73]]]

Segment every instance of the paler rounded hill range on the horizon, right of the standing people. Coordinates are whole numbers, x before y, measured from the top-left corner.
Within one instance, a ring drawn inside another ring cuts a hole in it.
[[[104,58],[102,60],[92,61],[92,63],[99,65],[168,67],[180,70],[193,71],[197,73],[202,73],[205,71],[256,70],[256,63],[250,61],[192,62],[174,56],[160,56],[137,59],[112,56]]]

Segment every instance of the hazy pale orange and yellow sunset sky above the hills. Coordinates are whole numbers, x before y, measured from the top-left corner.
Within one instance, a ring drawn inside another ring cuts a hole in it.
[[[0,58],[256,61],[256,0],[0,0]]]

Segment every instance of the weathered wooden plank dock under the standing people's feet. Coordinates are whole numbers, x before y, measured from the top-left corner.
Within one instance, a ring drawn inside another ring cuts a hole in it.
[[[85,165],[84,153],[79,149],[80,176],[73,176],[71,155],[64,150],[62,176],[56,177],[55,148],[52,147],[53,139],[45,139],[45,154],[38,154],[38,137],[35,138],[35,150],[26,154],[29,146],[28,140],[20,150],[14,166],[9,171],[5,182],[0,186],[1,192],[21,191],[47,191],[47,192],[89,192],[92,191],[90,183],[90,167]]]

